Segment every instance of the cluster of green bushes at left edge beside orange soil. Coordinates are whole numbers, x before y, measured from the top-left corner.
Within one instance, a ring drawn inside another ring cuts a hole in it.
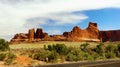
[[[0,61],[12,64],[15,58],[16,55],[10,52],[9,43],[4,39],[0,39]]]

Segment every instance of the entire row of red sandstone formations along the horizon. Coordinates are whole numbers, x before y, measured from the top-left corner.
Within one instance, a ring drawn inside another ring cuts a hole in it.
[[[40,41],[86,41],[86,42],[105,42],[120,41],[120,30],[100,31],[97,23],[89,22],[86,29],[82,30],[75,26],[72,31],[64,32],[61,35],[48,35],[41,28],[29,29],[28,33],[16,34],[10,43],[21,42],[40,42]]]

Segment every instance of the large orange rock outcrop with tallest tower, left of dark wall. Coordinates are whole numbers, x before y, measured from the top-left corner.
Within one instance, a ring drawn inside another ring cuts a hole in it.
[[[88,28],[85,30],[75,26],[71,32],[64,32],[63,36],[65,36],[68,41],[100,41],[97,24],[92,22],[89,23]]]

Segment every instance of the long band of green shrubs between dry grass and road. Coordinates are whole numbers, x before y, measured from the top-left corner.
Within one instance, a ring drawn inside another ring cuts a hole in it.
[[[96,47],[90,47],[89,43],[83,43],[78,47],[67,47],[64,44],[53,44],[45,46],[44,51],[36,53],[34,59],[45,61],[48,58],[48,61],[51,60],[57,61],[57,59],[62,59],[66,61],[82,61],[82,60],[102,60],[120,57],[118,45],[104,45],[104,43],[99,43]],[[36,55],[38,58],[36,58]],[[59,57],[59,56],[62,56]]]

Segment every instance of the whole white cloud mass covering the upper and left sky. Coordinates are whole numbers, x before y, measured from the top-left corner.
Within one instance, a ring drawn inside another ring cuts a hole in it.
[[[0,0],[0,36],[25,32],[28,28],[46,24],[46,18],[59,21],[55,24],[74,24],[87,16],[71,14],[73,11],[110,7],[120,8],[120,0]],[[28,19],[40,17],[44,19],[36,20],[36,23],[28,22]]]

